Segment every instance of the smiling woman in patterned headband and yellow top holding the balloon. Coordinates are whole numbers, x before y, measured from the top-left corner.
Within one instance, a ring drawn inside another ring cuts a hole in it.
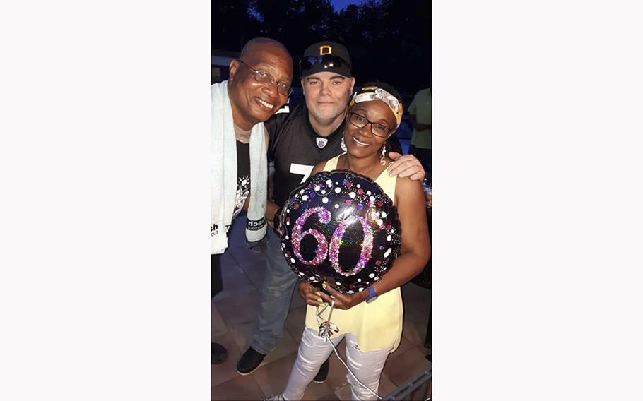
[[[353,95],[348,107],[348,124],[343,133],[347,152],[317,164],[312,174],[348,170],[379,184],[398,209],[400,254],[388,273],[368,287],[368,291],[341,294],[324,283],[329,296],[309,282],[300,282],[300,295],[309,305],[306,328],[288,384],[281,395],[271,400],[301,400],[319,366],[334,350],[329,341],[337,345],[344,337],[348,368],[353,373],[348,373],[351,398],[376,400],[384,363],[402,337],[400,286],[418,275],[430,256],[425,197],[419,181],[391,177],[387,171],[393,163],[387,157],[387,139],[402,119],[400,95],[391,85],[367,83]],[[334,303],[331,323],[338,331],[326,341],[318,335],[315,306],[331,303]]]

